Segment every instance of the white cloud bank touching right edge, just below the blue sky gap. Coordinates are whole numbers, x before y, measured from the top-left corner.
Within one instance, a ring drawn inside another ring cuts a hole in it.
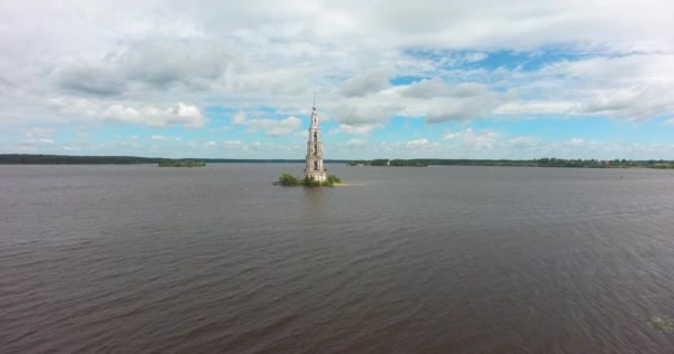
[[[674,54],[630,54],[548,64],[517,74],[520,102],[500,113],[607,116],[643,121],[674,112]],[[541,100],[542,93],[548,100]],[[533,98],[533,100],[532,100]]]

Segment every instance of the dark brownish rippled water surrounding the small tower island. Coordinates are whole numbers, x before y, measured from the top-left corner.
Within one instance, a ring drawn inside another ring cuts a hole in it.
[[[0,166],[0,352],[674,351],[674,171],[302,167]]]

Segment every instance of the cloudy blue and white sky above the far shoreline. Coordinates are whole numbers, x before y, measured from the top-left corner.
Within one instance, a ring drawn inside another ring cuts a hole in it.
[[[674,2],[0,2],[0,154],[674,159]]]

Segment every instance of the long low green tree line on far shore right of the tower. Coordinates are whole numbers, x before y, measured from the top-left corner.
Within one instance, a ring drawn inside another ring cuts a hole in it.
[[[514,166],[514,167],[578,167],[578,168],[674,168],[674,160],[627,160],[627,159],[369,159],[350,160],[349,166]]]

